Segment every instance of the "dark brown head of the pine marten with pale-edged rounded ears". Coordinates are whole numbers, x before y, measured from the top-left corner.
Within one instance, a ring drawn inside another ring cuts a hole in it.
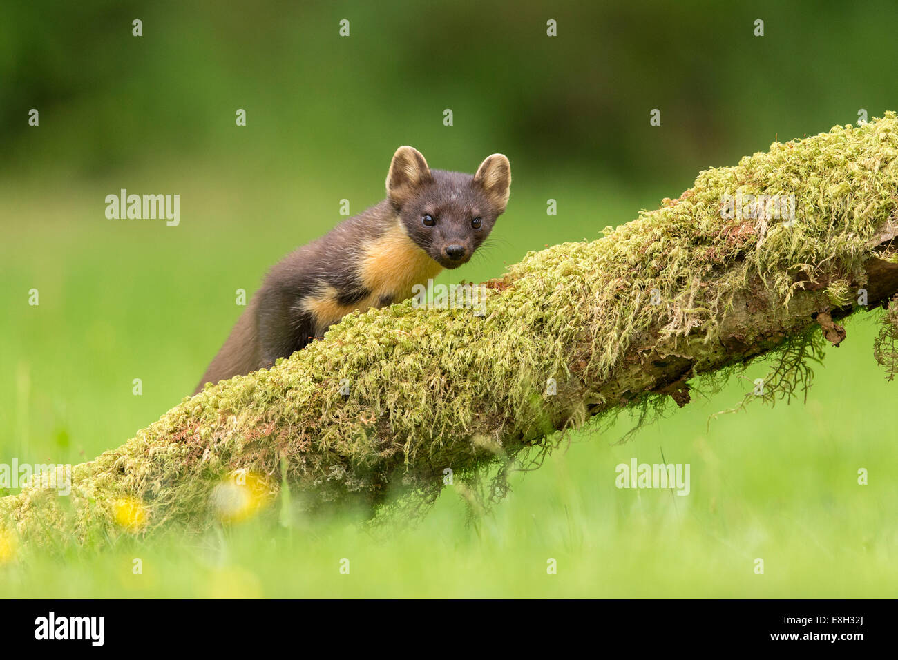
[[[431,170],[401,146],[387,174],[387,196],[409,238],[444,268],[458,268],[480,247],[508,203],[511,165],[487,156],[477,173]]]

